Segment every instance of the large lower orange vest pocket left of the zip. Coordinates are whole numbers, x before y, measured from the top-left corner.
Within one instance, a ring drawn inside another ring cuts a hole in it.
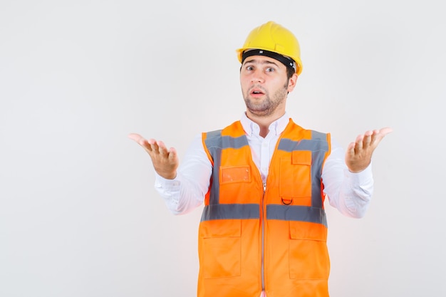
[[[204,278],[240,276],[242,221],[239,219],[202,222]]]

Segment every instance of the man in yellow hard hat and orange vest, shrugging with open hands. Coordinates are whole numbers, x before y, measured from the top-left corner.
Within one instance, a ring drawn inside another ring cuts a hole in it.
[[[199,297],[328,296],[325,197],[349,217],[370,202],[373,150],[391,129],[342,148],[286,115],[302,71],[299,43],[268,22],[238,51],[247,106],[242,119],[203,133],[179,167],[177,152],[138,134],[155,187],[175,214],[204,202],[199,225]]]

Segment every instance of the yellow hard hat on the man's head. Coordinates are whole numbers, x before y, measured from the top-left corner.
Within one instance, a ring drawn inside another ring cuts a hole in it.
[[[296,74],[299,75],[302,72],[301,48],[299,46],[299,41],[297,41],[296,36],[294,36],[291,31],[274,23],[274,21],[269,21],[266,24],[258,26],[249,33],[243,47],[237,50],[237,56],[240,63],[242,63],[243,54],[251,49],[262,50],[255,54],[264,54],[264,51],[268,51],[270,53],[279,53],[281,56],[289,57],[296,63]],[[264,55],[269,56],[268,54]],[[278,60],[281,61],[280,59]],[[284,61],[281,62],[286,65]]]

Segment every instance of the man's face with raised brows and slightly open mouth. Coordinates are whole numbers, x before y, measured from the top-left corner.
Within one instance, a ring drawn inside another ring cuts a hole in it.
[[[248,57],[240,70],[240,84],[247,113],[256,116],[281,116],[286,96],[296,85],[297,75],[290,79],[286,66],[266,56]]]

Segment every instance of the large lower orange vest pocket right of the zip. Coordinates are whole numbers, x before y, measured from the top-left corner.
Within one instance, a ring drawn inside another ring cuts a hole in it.
[[[290,278],[328,278],[330,259],[326,245],[326,226],[308,222],[289,222],[289,226]]]

